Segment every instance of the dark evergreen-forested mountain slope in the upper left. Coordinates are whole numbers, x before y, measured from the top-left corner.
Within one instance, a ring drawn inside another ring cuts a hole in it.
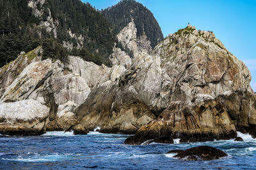
[[[0,0],[0,8],[0,66],[21,51],[42,45],[45,39],[64,46],[68,54],[110,64],[115,36],[106,18],[90,4],[79,0]]]

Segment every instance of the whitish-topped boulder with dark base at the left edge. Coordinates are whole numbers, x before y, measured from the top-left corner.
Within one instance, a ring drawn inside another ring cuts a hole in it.
[[[0,134],[40,135],[49,121],[49,108],[33,99],[0,103]]]

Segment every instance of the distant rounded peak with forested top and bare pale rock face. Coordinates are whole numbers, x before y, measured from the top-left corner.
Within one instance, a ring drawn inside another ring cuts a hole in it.
[[[120,1],[101,11],[108,19],[116,34],[117,44],[113,48],[113,65],[131,66],[132,58],[140,53],[150,53],[163,33],[154,15],[134,0]]]

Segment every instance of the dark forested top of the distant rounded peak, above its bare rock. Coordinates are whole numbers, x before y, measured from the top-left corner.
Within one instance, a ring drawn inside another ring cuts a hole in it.
[[[163,33],[156,18],[145,6],[134,0],[123,0],[115,6],[102,10],[104,16],[113,25],[115,34],[126,27],[132,19],[137,29],[137,37],[145,34],[154,48],[163,39]]]

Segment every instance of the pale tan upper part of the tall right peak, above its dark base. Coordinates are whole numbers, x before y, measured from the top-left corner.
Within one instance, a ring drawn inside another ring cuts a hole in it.
[[[161,67],[170,76],[174,101],[180,96],[191,100],[196,94],[215,98],[243,88],[253,92],[248,68],[211,31],[188,25],[161,41],[151,55],[161,58]]]

